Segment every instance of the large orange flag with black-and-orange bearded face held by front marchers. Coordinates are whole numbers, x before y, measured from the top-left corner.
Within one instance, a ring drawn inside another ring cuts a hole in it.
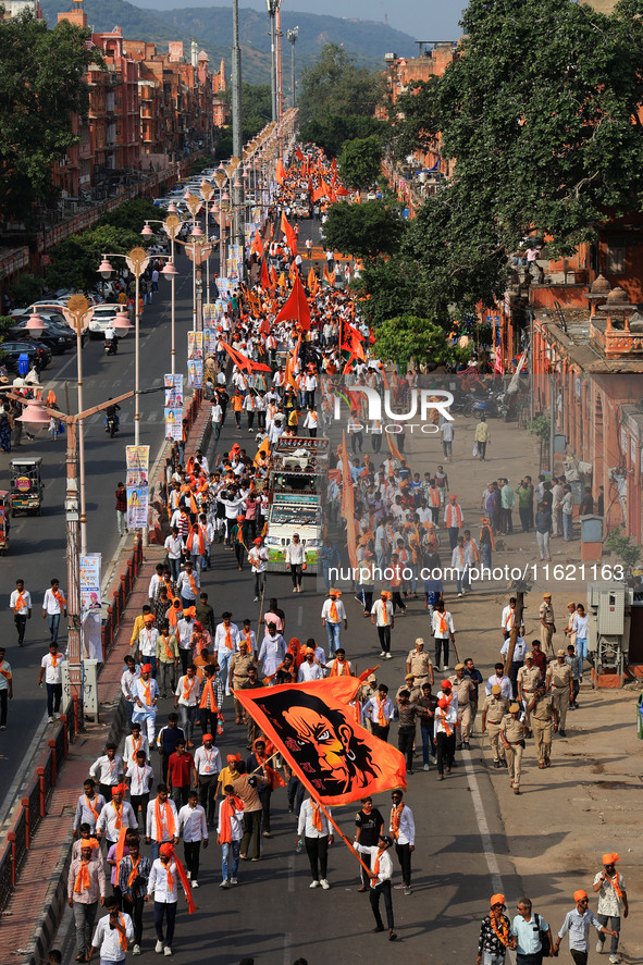
[[[355,721],[348,702],[359,679],[329,677],[235,691],[304,787],[322,804],[339,805],[406,788],[403,755]]]

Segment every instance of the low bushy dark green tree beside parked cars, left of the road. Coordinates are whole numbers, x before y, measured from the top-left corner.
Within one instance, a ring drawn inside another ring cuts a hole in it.
[[[47,284],[51,288],[94,288],[99,281],[98,265],[103,253],[125,255],[132,248],[145,248],[145,244],[137,232],[107,224],[70,235],[50,251]]]

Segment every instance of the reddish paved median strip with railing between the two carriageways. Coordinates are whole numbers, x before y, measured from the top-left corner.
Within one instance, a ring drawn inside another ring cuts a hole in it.
[[[210,417],[210,406],[201,405],[190,430],[186,449],[194,453],[203,440]],[[127,559],[131,545],[121,549],[121,559]],[[103,665],[98,681],[99,722],[87,723],[70,745],[70,755],[62,767],[49,808],[28,851],[11,901],[2,916],[0,930],[0,963],[2,965],[40,965],[47,958],[51,939],[66,906],[66,876],[73,843],[72,820],[83,781],[89,764],[101,753],[106,741],[119,741],[125,722],[121,702],[123,658],[129,653],[129,638],[136,616],[147,603],[147,590],[156,566],[165,558],[163,546],[150,545],[144,552],[144,562],[123,613],[114,647]],[[115,567],[115,573],[122,571]],[[111,590],[115,589],[116,576]]]

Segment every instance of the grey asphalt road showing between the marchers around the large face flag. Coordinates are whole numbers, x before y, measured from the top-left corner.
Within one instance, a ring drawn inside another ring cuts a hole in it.
[[[239,438],[232,426],[222,433],[220,449],[226,450]],[[286,638],[300,640],[316,635],[325,646],[325,631],[320,622],[323,597],[317,592],[313,577],[305,580],[305,592],[293,596],[289,578],[269,574],[268,595],[276,595],[286,613]],[[203,586],[210,594],[219,620],[222,609],[231,607],[239,623],[250,617],[256,627],[257,604],[252,603],[252,583],[248,570],[238,573],[234,556],[223,547],[214,549],[214,568],[203,574]],[[361,617],[361,607],[348,594],[349,626],[343,635],[348,655],[358,671],[378,663],[375,631]],[[421,602],[409,602],[409,616],[396,628],[396,655],[381,671],[382,680],[396,689],[404,676],[404,659],[412,641],[425,632]],[[171,702],[162,702],[160,721],[170,713]],[[239,751],[246,755],[245,728],[234,725],[230,698],[224,705],[226,727],[219,746],[222,754]],[[395,734],[392,739],[396,740]],[[475,747],[478,741],[474,741]],[[508,893],[520,891],[519,882],[505,854],[505,838],[497,813],[497,803],[480,756],[473,750],[467,760],[443,783],[435,770],[409,778],[407,801],[415,812],[418,827],[417,851],[413,855],[413,893],[404,896],[394,892],[394,911],[399,943],[386,941],[385,935],[372,935],[373,920],[368,894],[358,894],[358,865],[344,844],[331,849],[327,892],[309,889],[310,874],[306,854],[296,854],[296,822],[287,813],[284,791],[273,795],[273,838],[263,842],[260,864],[242,862],[240,884],[223,891],[221,852],[214,839],[202,852],[201,887],[195,892],[197,912],[189,917],[185,903],[177,917],[173,961],[176,965],[194,965],[215,955],[219,965],[236,965],[244,956],[254,956],[261,965],[290,965],[305,956],[309,965],[354,965],[386,961],[389,965],[407,965],[409,956],[426,963],[456,965],[463,955],[475,954],[479,918],[485,912],[489,895],[498,890],[500,880],[492,878],[483,852],[482,821],[485,843],[493,853],[492,870],[502,875]],[[154,766],[158,758],[154,755]],[[382,794],[375,804],[388,816],[389,794]],[[336,817],[350,836],[357,807],[336,812]],[[146,850],[147,851],[147,850]],[[182,846],[178,850],[182,855]],[[399,871],[396,859],[395,883]],[[73,928],[67,918],[61,929],[64,939],[64,965],[71,965],[75,951]],[[146,911],[144,955],[153,956],[152,910]]]

